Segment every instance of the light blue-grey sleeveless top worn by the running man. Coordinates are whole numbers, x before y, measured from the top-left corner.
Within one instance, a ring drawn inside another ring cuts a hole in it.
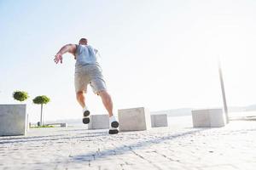
[[[97,50],[90,45],[76,45],[76,67],[84,65],[99,65],[96,59]]]

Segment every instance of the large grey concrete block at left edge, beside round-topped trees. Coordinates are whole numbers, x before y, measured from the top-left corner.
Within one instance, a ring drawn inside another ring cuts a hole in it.
[[[0,136],[26,135],[26,105],[0,105]]]

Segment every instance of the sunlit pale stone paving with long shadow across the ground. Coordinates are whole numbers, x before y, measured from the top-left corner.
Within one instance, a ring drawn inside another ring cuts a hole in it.
[[[0,137],[0,169],[256,169],[256,122],[108,135],[85,127]]]

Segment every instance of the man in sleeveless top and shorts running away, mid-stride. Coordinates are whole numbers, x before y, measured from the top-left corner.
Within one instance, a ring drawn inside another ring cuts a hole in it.
[[[84,93],[87,92],[87,85],[93,89],[94,93],[101,96],[102,103],[108,111],[109,116],[109,134],[119,133],[119,122],[113,116],[113,102],[111,96],[107,92],[106,84],[102,76],[102,68],[97,62],[97,50],[87,45],[87,39],[81,38],[79,45],[67,44],[63,46],[60,51],[55,54],[55,63],[59,61],[62,63],[62,54],[70,53],[76,59],[75,65],[75,91],[79,105],[83,108],[83,122],[88,124],[90,122],[90,111],[85,105]]]

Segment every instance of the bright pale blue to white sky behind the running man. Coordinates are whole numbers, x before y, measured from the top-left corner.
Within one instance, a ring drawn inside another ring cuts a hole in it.
[[[114,111],[222,106],[217,57],[222,60],[228,105],[256,103],[256,1],[15,1],[0,0],[0,103],[26,100],[39,121],[38,95],[51,99],[44,119],[80,118],[73,56],[55,65],[67,43],[86,37],[101,64]],[[90,89],[90,87],[89,87]],[[91,90],[92,113],[106,113]]]

